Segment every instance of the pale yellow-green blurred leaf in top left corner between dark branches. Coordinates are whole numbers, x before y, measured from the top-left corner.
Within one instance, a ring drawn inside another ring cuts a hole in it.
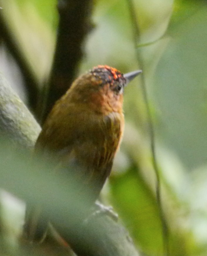
[[[56,25],[57,20],[56,1],[53,1],[53,4],[51,1],[47,2],[49,5],[44,4],[46,1],[43,3],[41,1],[0,0],[0,5],[3,7],[2,15],[39,82],[50,71],[55,46],[54,27],[56,26],[53,24]],[[43,14],[50,14],[53,18],[46,19],[46,15],[43,16]]]

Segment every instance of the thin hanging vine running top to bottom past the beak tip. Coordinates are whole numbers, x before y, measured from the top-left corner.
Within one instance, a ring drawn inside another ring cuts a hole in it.
[[[137,22],[137,17],[136,14],[134,13],[134,4],[132,0],[127,0],[128,1],[128,7],[129,7],[129,12],[132,20],[132,26],[134,30],[134,47],[136,50],[137,54],[137,61],[141,63],[141,67],[143,66],[143,61],[142,61],[142,56],[139,54],[137,50],[137,42],[139,42],[140,38],[140,31],[138,27],[138,22]],[[168,226],[166,223],[166,219],[164,217],[164,212],[162,209],[162,203],[161,203],[161,181],[160,181],[160,176],[159,176],[159,168],[157,165],[157,160],[156,160],[156,152],[155,152],[155,142],[154,142],[154,126],[153,126],[153,121],[152,121],[152,116],[149,108],[149,100],[147,96],[147,90],[146,90],[146,84],[145,84],[145,79],[144,79],[144,72],[141,75],[141,86],[142,86],[142,93],[143,93],[143,98],[144,102],[146,105],[146,110],[147,110],[147,118],[148,118],[148,125],[149,125],[149,136],[150,136],[150,142],[151,142],[151,152],[152,152],[152,164],[153,168],[155,171],[156,175],[156,198],[157,198],[157,204],[158,204],[158,209],[159,209],[159,214],[161,218],[161,223],[162,223],[162,233],[163,233],[163,250],[164,250],[164,255],[169,255],[169,231],[168,231]]]

